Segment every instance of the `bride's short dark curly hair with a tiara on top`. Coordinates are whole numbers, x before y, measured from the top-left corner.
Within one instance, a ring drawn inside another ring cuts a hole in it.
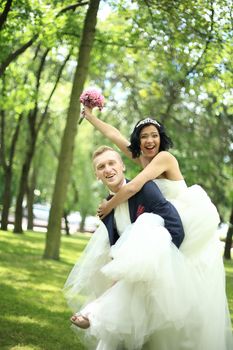
[[[132,134],[130,135],[130,145],[128,146],[128,149],[132,152],[133,158],[138,158],[141,155],[140,134],[142,129],[148,125],[154,125],[159,132],[159,135],[160,135],[159,152],[167,151],[170,147],[173,146],[173,142],[171,138],[166,134],[165,128],[161,123],[157,122],[152,118],[142,119],[137,122]]]

